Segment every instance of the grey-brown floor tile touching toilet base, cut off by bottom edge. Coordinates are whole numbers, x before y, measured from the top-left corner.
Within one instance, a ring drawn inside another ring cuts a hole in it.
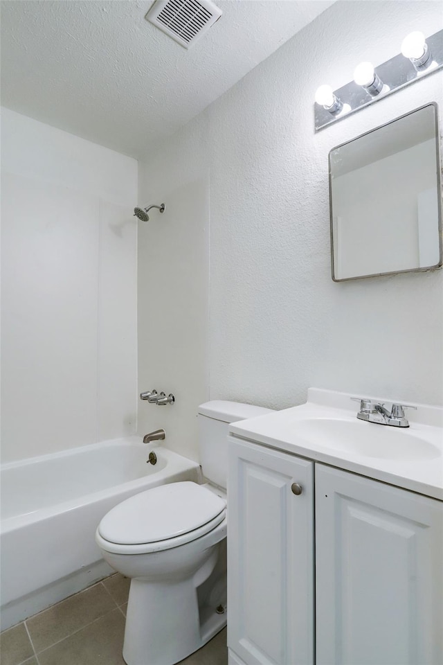
[[[39,653],[40,665],[125,665],[125,617],[116,609]]]

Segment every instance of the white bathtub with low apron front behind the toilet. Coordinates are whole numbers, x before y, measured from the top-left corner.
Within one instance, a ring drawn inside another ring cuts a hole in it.
[[[199,482],[199,465],[135,436],[1,465],[1,629],[111,574],[94,540],[102,516],[181,480]]]

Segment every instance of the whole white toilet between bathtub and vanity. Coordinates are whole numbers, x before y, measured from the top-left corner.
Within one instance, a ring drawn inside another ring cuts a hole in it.
[[[226,626],[228,423],[269,411],[221,400],[200,405],[199,454],[208,482],[146,490],[98,525],[103,558],[131,578],[127,665],[174,665]]]

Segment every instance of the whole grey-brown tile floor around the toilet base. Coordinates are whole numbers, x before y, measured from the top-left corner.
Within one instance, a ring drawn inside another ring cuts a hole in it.
[[[125,665],[129,580],[120,573],[0,635],[1,665]],[[227,665],[226,629],[181,665]],[[150,665],[149,659],[143,665]]]

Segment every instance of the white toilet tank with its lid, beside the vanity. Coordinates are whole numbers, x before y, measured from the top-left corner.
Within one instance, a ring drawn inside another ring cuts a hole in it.
[[[213,400],[199,406],[199,454],[204,476],[226,488],[228,479],[228,425],[236,420],[264,416],[273,409],[241,402]]]

